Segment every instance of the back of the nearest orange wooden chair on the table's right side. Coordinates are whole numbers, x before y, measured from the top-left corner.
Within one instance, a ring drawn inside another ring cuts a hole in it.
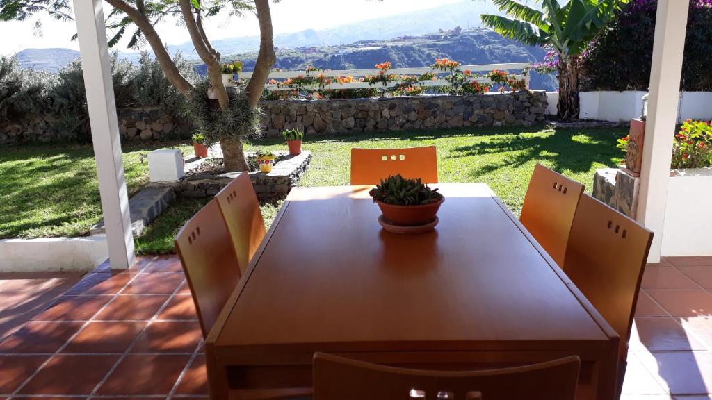
[[[618,333],[622,357],[652,239],[636,221],[581,196],[562,269]]]

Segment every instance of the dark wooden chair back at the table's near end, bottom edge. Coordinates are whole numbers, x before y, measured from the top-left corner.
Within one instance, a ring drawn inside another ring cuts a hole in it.
[[[314,355],[314,400],[572,400],[576,356],[524,367],[426,371]]]

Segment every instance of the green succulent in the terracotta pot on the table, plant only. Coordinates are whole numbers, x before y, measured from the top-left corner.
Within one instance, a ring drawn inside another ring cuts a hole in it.
[[[373,201],[394,206],[419,206],[442,199],[438,189],[423,184],[420,179],[406,179],[400,174],[382,179],[368,194],[373,197]]]

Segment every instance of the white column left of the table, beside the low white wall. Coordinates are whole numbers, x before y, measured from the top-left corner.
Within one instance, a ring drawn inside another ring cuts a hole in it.
[[[109,260],[111,268],[128,268],[134,262],[134,243],[102,0],[74,0],[74,15]]]

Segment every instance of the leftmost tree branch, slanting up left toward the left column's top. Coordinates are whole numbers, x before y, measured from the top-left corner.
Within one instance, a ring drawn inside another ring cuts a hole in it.
[[[155,28],[151,22],[143,15],[139,10],[130,6],[125,1],[122,0],[106,0],[111,6],[120,9],[129,16],[132,21],[138,26],[138,28],[143,32],[146,40],[153,49],[153,53],[156,56],[156,60],[163,68],[166,77],[174,85],[180,93],[189,96],[193,85],[183,75],[181,75],[180,70],[173,62],[170,54],[163,45],[160,36],[156,32]]]

